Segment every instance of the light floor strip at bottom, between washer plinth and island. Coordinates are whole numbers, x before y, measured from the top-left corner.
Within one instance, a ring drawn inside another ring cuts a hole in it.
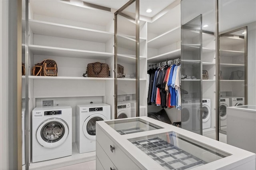
[[[96,160],[83,162],[80,164],[74,164],[70,166],[64,166],[53,170],[96,170]]]

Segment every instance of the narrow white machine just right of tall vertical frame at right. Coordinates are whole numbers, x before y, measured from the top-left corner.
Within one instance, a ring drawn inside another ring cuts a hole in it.
[[[227,126],[227,107],[229,107],[229,98],[220,98],[220,128]]]

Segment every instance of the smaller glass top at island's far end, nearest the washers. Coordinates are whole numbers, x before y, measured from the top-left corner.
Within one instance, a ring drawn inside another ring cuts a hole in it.
[[[162,128],[158,125],[155,125],[153,123],[150,123],[140,118],[125,119],[125,120],[116,119],[113,121],[107,121],[106,123],[121,135],[131,134],[136,132],[144,132],[149,130],[156,130],[156,129]]]

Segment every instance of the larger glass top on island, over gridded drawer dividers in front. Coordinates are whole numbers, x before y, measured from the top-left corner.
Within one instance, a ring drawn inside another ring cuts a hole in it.
[[[167,170],[189,170],[231,155],[173,131],[128,140]]]

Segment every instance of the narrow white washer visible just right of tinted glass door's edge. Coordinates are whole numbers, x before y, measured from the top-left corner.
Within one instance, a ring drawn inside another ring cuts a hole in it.
[[[202,121],[203,129],[211,127],[211,99],[202,100]]]

